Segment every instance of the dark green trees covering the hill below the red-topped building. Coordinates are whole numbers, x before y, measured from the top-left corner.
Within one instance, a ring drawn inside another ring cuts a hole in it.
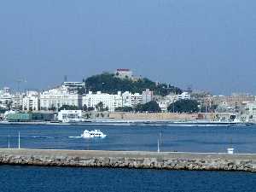
[[[116,94],[117,91],[131,91],[132,93],[142,93],[143,90],[153,90],[155,95],[166,96],[172,92],[180,94],[182,90],[171,84],[156,84],[153,81],[143,79],[119,79],[112,73],[102,73],[84,79],[87,90],[93,92],[101,90],[109,94]]]

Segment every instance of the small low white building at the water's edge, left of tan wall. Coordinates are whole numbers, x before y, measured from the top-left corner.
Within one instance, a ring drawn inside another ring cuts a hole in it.
[[[61,122],[81,121],[82,110],[61,110],[58,113],[58,120]]]

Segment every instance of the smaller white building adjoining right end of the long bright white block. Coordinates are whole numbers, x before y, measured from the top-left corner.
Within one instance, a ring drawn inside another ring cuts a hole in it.
[[[143,95],[139,93],[132,94],[129,91],[125,91],[122,94],[123,107],[135,108],[138,104],[143,104]]]

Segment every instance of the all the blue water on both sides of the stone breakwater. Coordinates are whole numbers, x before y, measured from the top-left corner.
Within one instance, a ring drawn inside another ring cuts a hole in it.
[[[182,127],[126,125],[0,125],[0,148],[256,153],[256,126]],[[100,129],[104,139],[74,138]],[[0,192],[57,191],[256,191],[249,172],[185,172],[136,169],[0,166]]]

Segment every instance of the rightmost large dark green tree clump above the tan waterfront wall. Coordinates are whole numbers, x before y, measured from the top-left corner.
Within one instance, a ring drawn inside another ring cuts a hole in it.
[[[169,112],[174,113],[195,113],[199,112],[199,103],[195,100],[179,100],[173,102],[169,107]]]

